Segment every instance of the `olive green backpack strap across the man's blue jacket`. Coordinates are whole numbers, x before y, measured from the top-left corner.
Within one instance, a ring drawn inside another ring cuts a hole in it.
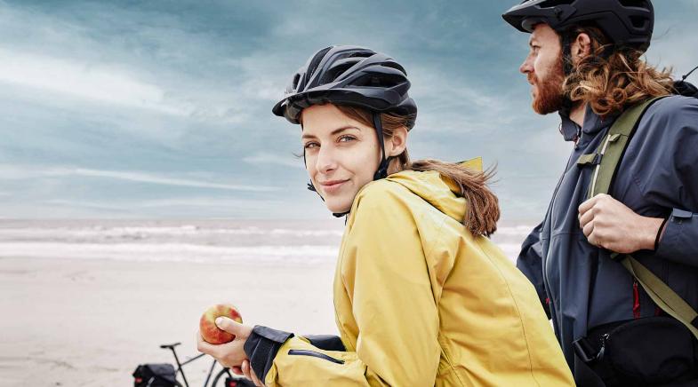
[[[627,109],[615,120],[597,151],[594,154],[584,154],[580,157],[577,163],[596,166],[591,178],[588,198],[610,192],[622,156],[625,154],[625,149],[628,147],[630,138],[637,129],[642,115],[645,114],[647,107],[662,98],[648,99]],[[657,304],[662,308],[662,311],[671,317],[681,321],[698,338],[698,313],[691,305],[630,254],[612,253],[611,257],[620,262],[638,280],[654,304]]]

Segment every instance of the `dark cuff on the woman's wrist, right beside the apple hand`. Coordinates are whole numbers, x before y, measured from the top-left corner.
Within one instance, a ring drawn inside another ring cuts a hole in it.
[[[267,373],[277,357],[277,352],[286,340],[293,337],[293,333],[280,330],[254,326],[252,334],[245,341],[245,354],[250,358],[250,367],[254,374],[264,383]]]

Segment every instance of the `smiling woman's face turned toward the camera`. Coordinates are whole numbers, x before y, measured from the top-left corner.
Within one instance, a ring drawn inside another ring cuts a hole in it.
[[[375,130],[333,105],[314,105],[302,112],[306,169],[327,209],[347,212],[361,187],[373,181],[381,163]],[[386,154],[392,148],[386,142]]]

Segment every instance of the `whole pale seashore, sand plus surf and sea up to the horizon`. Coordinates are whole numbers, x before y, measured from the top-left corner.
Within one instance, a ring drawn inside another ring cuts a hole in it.
[[[0,221],[0,387],[132,385],[160,344],[198,354],[201,313],[236,304],[245,323],[333,334],[343,222]],[[516,257],[527,225],[493,240]],[[185,366],[201,386],[213,359]]]

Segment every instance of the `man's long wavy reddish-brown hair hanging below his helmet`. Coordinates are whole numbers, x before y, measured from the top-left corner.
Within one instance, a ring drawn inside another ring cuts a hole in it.
[[[565,94],[573,101],[589,104],[594,113],[606,118],[671,92],[670,69],[649,66],[642,51],[615,48],[596,27],[582,26],[566,34],[574,39],[582,33],[590,36],[591,53],[574,67],[563,84]]]

